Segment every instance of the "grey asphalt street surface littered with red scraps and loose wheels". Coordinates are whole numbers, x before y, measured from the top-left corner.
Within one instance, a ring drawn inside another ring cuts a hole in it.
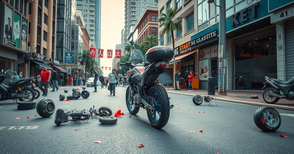
[[[59,101],[63,90],[49,92],[46,98],[54,101],[56,110],[83,110],[95,105],[97,109],[108,106],[114,113],[122,110],[126,115],[118,117],[114,125],[102,125],[94,117],[80,125],[69,122],[56,126],[55,113],[41,118],[36,109],[17,110],[11,100],[0,101],[0,153],[294,153],[294,112],[291,111],[278,110],[290,116],[281,115],[280,128],[266,133],[253,121],[259,106],[223,101],[218,101],[218,106],[204,103],[196,106],[190,96],[169,94],[175,107],[170,111],[167,125],[157,130],[150,125],[142,108],[128,118],[125,87],[118,87],[116,96],[110,96],[106,88],[98,88],[97,93],[93,93],[93,87],[86,90],[90,91],[88,99]],[[71,89],[67,94],[70,92]],[[31,118],[26,119],[27,116]],[[75,128],[78,130],[74,131]],[[281,133],[289,137],[280,137]],[[145,147],[137,146],[141,143]]]

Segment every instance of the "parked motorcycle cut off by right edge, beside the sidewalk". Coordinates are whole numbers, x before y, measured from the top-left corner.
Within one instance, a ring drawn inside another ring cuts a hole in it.
[[[279,99],[294,100],[294,77],[288,81],[282,81],[265,77],[263,84],[263,100],[269,104],[275,104]]]

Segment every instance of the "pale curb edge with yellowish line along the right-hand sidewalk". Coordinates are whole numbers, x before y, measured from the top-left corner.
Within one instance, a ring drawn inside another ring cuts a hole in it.
[[[170,92],[167,91],[168,93],[172,94],[179,94],[179,95],[186,95],[186,96],[195,96],[193,94],[186,94],[186,93],[179,93],[179,92]],[[294,107],[292,106],[285,106],[285,105],[275,105],[275,104],[267,104],[267,103],[258,103],[258,102],[252,102],[252,101],[239,101],[239,100],[234,100],[234,99],[221,99],[221,98],[216,98],[218,101],[226,101],[226,102],[231,102],[231,103],[238,103],[238,104],[248,104],[248,105],[255,105],[255,106],[271,106],[275,109],[282,109],[282,110],[288,110],[288,111],[294,111]]]

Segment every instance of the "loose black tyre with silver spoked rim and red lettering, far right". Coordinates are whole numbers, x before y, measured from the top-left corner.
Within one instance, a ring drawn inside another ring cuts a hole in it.
[[[253,119],[259,129],[267,132],[276,131],[281,125],[280,114],[270,106],[263,106],[257,109]]]

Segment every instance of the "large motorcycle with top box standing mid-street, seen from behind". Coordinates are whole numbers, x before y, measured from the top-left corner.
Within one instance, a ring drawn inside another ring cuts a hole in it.
[[[126,106],[132,115],[138,113],[140,107],[147,111],[148,119],[154,128],[163,128],[169,118],[170,102],[164,87],[156,84],[160,74],[169,66],[174,52],[167,46],[150,48],[145,55],[141,50],[131,50],[128,62],[121,63],[131,68],[127,72]],[[130,116],[130,117],[131,117]]]

